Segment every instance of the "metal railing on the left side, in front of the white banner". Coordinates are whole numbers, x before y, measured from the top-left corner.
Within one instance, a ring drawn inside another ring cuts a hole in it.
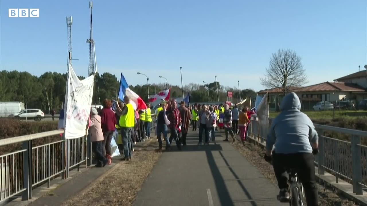
[[[152,118],[151,130],[156,121]],[[69,171],[80,166],[92,165],[93,152],[87,136],[76,139],[63,139],[64,130],[36,133],[0,139],[0,147],[22,143],[21,150],[0,155],[0,205],[21,196],[22,200],[32,198],[33,188],[47,183],[58,176],[69,177]],[[60,136],[57,141],[33,146],[33,141],[40,138]]]

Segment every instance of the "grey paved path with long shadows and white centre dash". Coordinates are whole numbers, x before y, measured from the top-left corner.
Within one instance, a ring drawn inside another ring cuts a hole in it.
[[[276,200],[278,188],[241,155],[232,143],[197,146],[198,132],[189,132],[188,146],[164,152],[138,193],[135,206],[288,205]]]

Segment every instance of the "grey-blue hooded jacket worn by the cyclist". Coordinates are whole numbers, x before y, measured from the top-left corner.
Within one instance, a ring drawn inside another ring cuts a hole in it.
[[[280,114],[273,120],[266,139],[266,150],[282,154],[312,153],[310,143],[319,141],[311,119],[301,111],[301,102],[292,92],[280,104]]]

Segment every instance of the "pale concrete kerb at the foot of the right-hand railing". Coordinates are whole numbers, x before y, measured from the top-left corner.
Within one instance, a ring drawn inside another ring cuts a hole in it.
[[[248,140],[250,140],[251,143],[254,143],[257,146],[260,146],[265,149],[265,142],[260,142],[257,139],[254,139],[252,137],[246,136]],[[332,187],[333,189],[336,189],[342,193],[346,198],[351,199],[360,205],[367,206],[367,193],[364,192],[363,195],[356,195],[352,192],[352,184],[338,179],[338,183],[335,182],[335,176],[333,174],[330,174],[325,171],[325,174],[321,175],[317,172],[317,167],[315,166],[315,177],[316,181],[321,183],[321,181],[326,184],[329,187]]]

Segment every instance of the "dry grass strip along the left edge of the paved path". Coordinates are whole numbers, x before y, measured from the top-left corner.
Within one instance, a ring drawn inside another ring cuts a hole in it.
[[[161,156],[156,152],[155,143],[141,148],[134,147],[133,159],[129,162],[120,162],[110,174],[87,191],[75,195],[66,202],[68,206],[114,206],[132,205],[143,181],[148,177],[153,166]],[[138,150],[138,151],[137,151]]]

